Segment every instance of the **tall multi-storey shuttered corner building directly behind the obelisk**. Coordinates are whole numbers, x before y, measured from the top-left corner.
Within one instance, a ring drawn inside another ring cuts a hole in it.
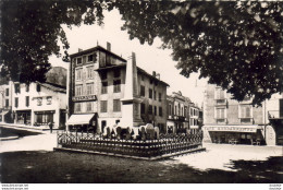
[[[69,73],[69,129],[107,126],[138,127],[148,122],[165,131],[167,83],[160,74],[136,66],[135,54],[126,61],[97,46],[71,55]]]

